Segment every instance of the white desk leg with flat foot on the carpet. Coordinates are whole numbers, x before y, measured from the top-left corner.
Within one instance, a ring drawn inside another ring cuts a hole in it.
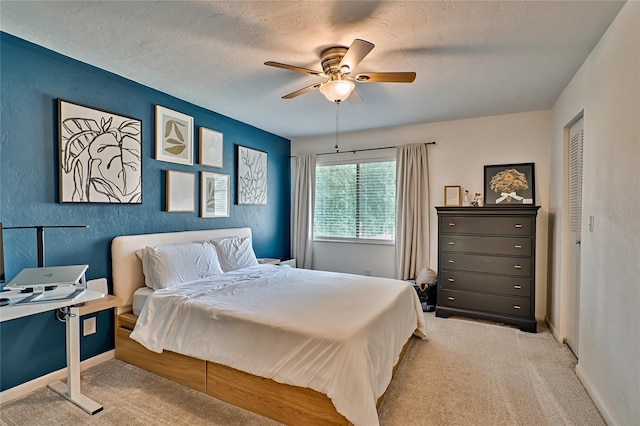
[[[80,392],[80,308],[72,307],[67,319],[67,383],[54,382],[49,389],[62,395],[89,414],[102,411],[102,405]]]

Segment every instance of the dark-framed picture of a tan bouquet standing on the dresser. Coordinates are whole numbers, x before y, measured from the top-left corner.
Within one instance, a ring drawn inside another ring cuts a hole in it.
[[[534,163],[484,166],[484,205],[535,204]]]

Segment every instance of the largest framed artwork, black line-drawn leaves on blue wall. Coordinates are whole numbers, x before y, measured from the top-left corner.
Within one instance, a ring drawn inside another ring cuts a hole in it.
[[[142,203],[142,121],[58,99],[59,201]]]

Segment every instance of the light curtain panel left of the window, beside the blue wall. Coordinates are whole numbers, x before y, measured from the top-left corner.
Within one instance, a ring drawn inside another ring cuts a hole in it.
[[[299,268],[311,269],[316,156],[298,155],[293,193],[293,257]]]

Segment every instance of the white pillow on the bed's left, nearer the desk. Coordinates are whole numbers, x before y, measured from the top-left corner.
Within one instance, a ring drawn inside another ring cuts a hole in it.
[[[146,247],[136,255],[142,260],[145,284],[154,290],[223,273],[209,242]]]

